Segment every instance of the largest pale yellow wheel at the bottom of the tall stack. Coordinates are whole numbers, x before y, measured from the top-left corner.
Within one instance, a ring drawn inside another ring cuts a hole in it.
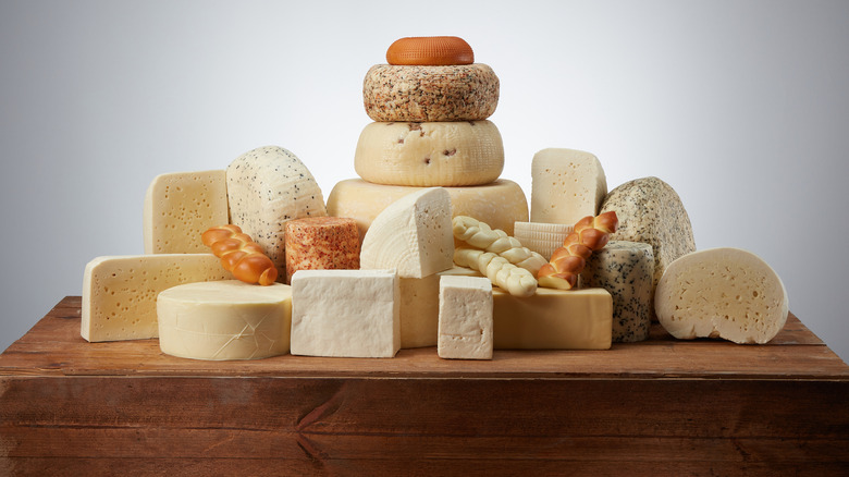
[[[519,184],[500,179],[487,185],[443,187],[451,197],[451,215],[469,216],[494,229],[513,234],[514,222],[528,220],[528,201]],[[390,204],[421,191],[422,187],[372,184],[361,179],[348,179],[333,186],[328,196],[328,213],[350,217],[357,221],[360,240],[371,222]]]

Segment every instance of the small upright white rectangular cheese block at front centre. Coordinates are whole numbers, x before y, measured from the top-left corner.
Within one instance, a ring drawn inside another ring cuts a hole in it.
[[[492,359],[492,283],[484,277],[440,280],[436,353],[447,359]]]

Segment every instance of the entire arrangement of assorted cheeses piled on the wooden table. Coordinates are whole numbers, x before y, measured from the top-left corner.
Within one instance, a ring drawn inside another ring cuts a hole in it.
[[[529,209],[501,178],[499,78],[466,41],[402,38],[386,61],[364,81],[373,122],[352,150],[359,178],[327,204],[309,161],[280,146],[156,176],[145,255],[86,266],[82,337],[158,339],[193,359],[432,347],[485,360],[627,345],[649,339],[655,314],[679,339],[765,343],[782,329],[775,271],[748,252],[697,252],[657,178],[608,192],[598,157],[543,148]]]

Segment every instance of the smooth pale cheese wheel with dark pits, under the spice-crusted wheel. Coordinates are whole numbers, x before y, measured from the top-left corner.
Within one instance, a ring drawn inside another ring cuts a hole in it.
[[[357,142],[354,169],[377,184],[489,184],[504,169],[504,145],[489,121],[371,123]]]

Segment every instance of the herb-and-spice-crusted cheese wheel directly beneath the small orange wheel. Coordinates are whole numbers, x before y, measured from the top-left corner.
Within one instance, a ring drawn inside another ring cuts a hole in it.
[[[485,64],[376,64],[362,82],[366,113],[378,122],[480,121],[499,105],[499,77]]]

